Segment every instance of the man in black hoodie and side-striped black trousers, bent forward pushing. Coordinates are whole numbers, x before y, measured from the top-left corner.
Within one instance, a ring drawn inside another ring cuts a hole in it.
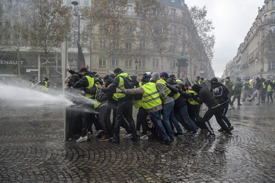
[[[218,103],[218,101],[214,98],[214,96],[211,94],[210,90],[207,88],[203,88],[197,84],[194,84],[192,86],[192,89],[198,93],[198,98],[195,98],[195,100],[199,104],[205,103],[205,105],[208,107],[208,110],[206,111],[205,115],[203,116],[203,121],[205,122],[205,125],[207,126],[207,129],[209,131],[209,134],[206,135],[206,138],[215,138],[214,131],[209,123],[209,120],[215,115],[216,120],[220,127],[225,131],[225,135],[232,136],[232,133],[226,126],[225,122],[223,121],[223,118],[221,116],[221,107]]]

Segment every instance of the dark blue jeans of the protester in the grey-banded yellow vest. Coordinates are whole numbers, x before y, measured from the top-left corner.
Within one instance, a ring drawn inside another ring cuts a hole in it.
[[[165,140],[165,141],[170,140],[161,122],[161,118],[160,118],[161,110],[148,113],[148,114],[150,115],[151,120],[153,121],[153,124],[156,127],[156,129],[158,130],[158,133],[160,134],[160,137],[162,138],[162,140]]]

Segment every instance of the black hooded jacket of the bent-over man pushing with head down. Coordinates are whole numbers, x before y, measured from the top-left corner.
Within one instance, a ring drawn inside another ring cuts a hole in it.
[[[216,107],[217,105],[219,105],[217,99],[214,98],[213,94],[210,92],[209,89],[203,88],[197,84],[194,84],[192,86],[192,89],[196,93],[198,93],[198,98],[195,98],[195,100],[199,104],[205,103],[205,105],[207,105],[208,108],[213,108],[213,107]]]

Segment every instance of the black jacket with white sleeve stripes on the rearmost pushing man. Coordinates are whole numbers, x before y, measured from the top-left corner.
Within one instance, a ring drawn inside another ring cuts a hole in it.
[[[219,104],[223,104],[228,101],[228,97],[225,94],[225,90],[228,89],[226,89],[225,86],[220,82],[211,82],[210,91],[213,93],[214,98],[217,99]]]

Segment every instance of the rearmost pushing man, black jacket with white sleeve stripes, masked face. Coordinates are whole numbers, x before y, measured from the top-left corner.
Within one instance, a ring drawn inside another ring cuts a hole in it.
[[[213,93],[215,99],[217,99],[217,101],[220,104],[223,121],[225,121],[229,130],[232,131],[234,128],[231,125],[228,118],[225,116],[229,106],[229,99],[227,96],[229,94],[229,90],[225,88],[225,86],[218,81],[218,78],[215,78],[215,77],[210,80],[210,84],[211,84],[210,91]],[[224,130],[221,128],[218,131],[222,132]]]

